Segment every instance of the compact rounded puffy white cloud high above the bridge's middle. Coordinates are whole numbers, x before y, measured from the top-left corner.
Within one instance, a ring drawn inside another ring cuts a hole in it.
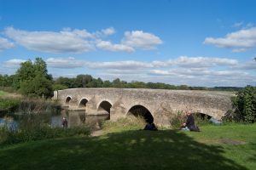
[[[143,31],[125,31],[125,38],[121,42],[132,48],[154,49],[162,40],[154,34]]]

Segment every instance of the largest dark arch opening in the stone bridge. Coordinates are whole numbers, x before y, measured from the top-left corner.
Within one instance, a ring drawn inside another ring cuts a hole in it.
[[[126,114],[127,116],[142,116],[146,122],[154,122],[151,112],[143,105],[133,105]]]

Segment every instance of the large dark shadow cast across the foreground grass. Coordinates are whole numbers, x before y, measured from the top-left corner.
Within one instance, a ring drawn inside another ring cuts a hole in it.
[[[0,150],[0,169],[247,169],[177,131],[128,131]]]

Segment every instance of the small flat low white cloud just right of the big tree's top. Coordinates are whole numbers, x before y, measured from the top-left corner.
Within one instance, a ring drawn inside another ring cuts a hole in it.
[[[86,65],[86,61],[78,60],[73,57],[49,58],[49,59],[46,59],[46,63],[49,67],[64,68],[64,69],[79,68],[79,67],[84,67],[84,65]]]

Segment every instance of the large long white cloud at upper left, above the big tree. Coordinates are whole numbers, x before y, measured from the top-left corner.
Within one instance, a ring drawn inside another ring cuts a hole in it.
[[[94,49],[91,42],[84,39],[91,37],[86,30],[21,31],[8,27],[5,35],[21,46],[46,53],[82,53]]]

